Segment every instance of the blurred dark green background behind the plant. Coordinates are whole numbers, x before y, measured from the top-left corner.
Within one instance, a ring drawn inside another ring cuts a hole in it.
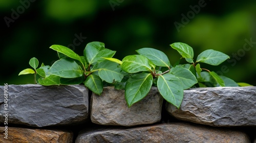
[[[166,53],[172,64],[180,55],[171,43],[189,44],[195,59],[214,49],[230,60],[201,67],[256,85],[255,1],[0,0],[0,12],[0,85],[33,83],[33,75],[18,73],[30,68],[32,57],[39,65],[58,60],[49,49],[53,44],[83,55],[92,41],[117,51],[114,57],[120,60],[142,47],[153,47]]]

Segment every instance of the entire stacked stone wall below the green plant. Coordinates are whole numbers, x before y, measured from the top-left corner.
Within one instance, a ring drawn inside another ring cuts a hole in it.
[[[83,85],[8,85],[0,93],[0,142],[256,143],[253,86],[184,90],[180,109],[156,87],[130,108],[113,87],[101,96]]]

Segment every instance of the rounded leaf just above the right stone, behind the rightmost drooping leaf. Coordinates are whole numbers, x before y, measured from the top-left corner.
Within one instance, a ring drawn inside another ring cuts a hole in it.
[[[197,83],[197,78],[190,70],[176,66],[170,69],[170,74],[175,75],[181,82],[183,89],[188,89]]]

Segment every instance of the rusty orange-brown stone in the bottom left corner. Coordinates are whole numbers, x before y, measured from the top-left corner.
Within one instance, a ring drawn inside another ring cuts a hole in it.
[[[44,130],[44,129],[25,129],[8,127],[7,139],[4,138],[4,127],[0,127],[0,142],[24,143],[24,142],[59,142],[71,143],[73,141],[73,133],[60,130]]]

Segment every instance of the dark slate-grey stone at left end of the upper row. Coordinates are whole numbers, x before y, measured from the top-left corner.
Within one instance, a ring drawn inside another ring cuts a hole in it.
[[[0,86],[0,93],[4,93]],[[34,127],[73,125],[89,118],[88,89],[83,85],[8,85],[8,107],[0,98],[0,122]]]

